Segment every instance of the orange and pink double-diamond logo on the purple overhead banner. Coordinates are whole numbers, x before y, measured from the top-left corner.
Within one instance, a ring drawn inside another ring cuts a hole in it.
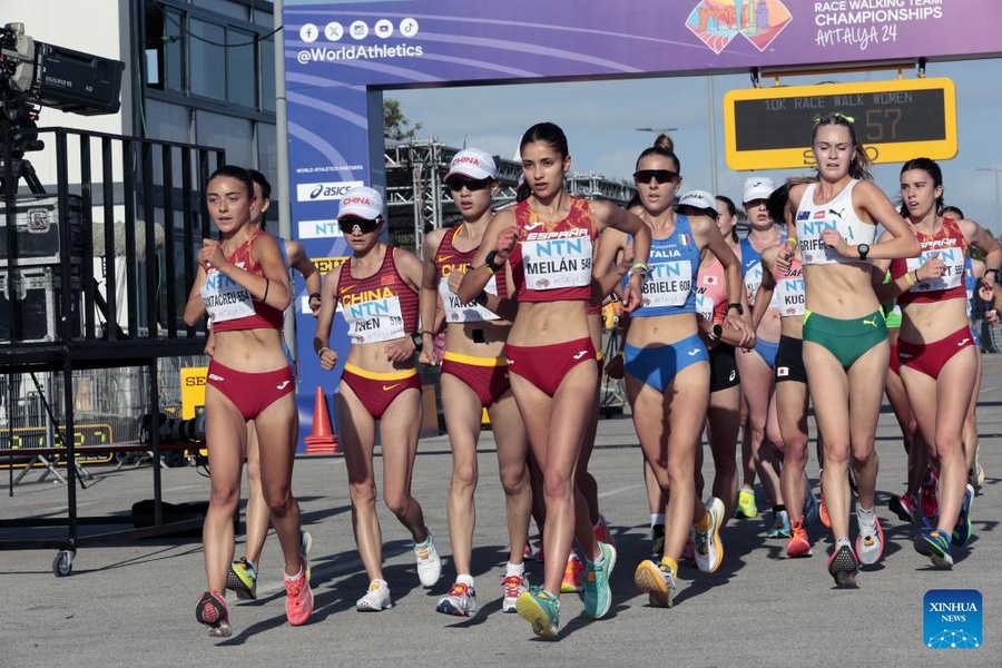
[[[719,53],[738,35],[765,51],[793,17],[782,0],[703,0],[686,27]]]

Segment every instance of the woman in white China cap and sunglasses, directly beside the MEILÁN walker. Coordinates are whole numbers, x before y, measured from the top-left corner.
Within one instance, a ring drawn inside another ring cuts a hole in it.
[[[477,613],[471,559],[477,519],[473,493],[479,478],[477,443],[481,416],[487,409],[498,448],[498,465],[508,517],[511,553],[503,581],[501,610],[515,611],[519,595],[527,589],[523,548],[529,533],[532,488],[525,458],[529,441],[508,380],[504,341],[511,323],[487,306],[500,310],[508,296],[508,272],[499,272],[475,299],[463,303],[450,287],[452,275],[462,274],[480,247],[491,219],[491,198],[499,188],[498,167],[487,153],[469,148],[455,154],[445,186],[452,193],[463,222],[434,229],[424,237],[424,278],[421,285],[421,322],[434,322],[439,296],[445,306],[445,351],[442,362],[442,406],[452,445],[452,480],[446,517],[455,564],[455,583],[435,610],[470,617]],[[508,317],[511,317],[508,314]],[[421,362],[438,364],[433,333],[424,331]]]

